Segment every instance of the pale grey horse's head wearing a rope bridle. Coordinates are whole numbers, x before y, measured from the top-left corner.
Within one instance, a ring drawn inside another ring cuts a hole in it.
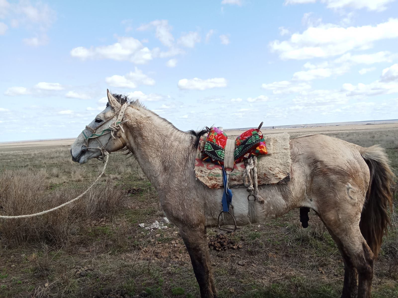
[[[72,161],[80,164],[89,159],[103,157],[104,151],[113,152],[125,147],[125,141],[117,131],[123,122],[127,99],[119,101],[107,90],[108,103],[100,114],[82,131],[70,148]]]

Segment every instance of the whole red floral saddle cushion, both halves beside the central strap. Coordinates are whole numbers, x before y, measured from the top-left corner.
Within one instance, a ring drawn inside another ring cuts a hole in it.
[[[212,127],[206,137],[203,161],[223,165],[226,139],[227,135],[224,132],[217,127]],[[235,163],[241,163],[252,155],[259,156],[267,153],[263,134],[258,129],[250,129],[235,140]]]

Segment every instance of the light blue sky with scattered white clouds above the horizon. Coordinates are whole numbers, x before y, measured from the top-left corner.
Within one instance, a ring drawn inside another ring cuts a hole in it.
[[[77,137],[106,89],[181,130],[398,118],[398,1],[0,0],[0,141]]]

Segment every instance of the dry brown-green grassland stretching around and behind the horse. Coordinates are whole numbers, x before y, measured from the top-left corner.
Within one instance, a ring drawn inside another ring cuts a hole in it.
[[[332,129],[322,133],[362,146],[380,143],[398,173],[396,126]],[[43,217],[0,220],[0,297],[199,296],[178,230],[138,226],[164,216],[150,182],[134,158],[116,153],[109,159],[98,187],[75,204]],[[72,163],[67,142],[0,146],[0,214],[59,205],[82,192],[101,168],[98,161]],[[392,222],[375,265],[376,298],[398,296],[396,192]],[[339,297],[338,249],[313,212],[309,224],[303,229],[294,210],[239,228],[230,238],[241,249],[211,250],[219,296]],[[216,233],[210,229],[209,238]]]

